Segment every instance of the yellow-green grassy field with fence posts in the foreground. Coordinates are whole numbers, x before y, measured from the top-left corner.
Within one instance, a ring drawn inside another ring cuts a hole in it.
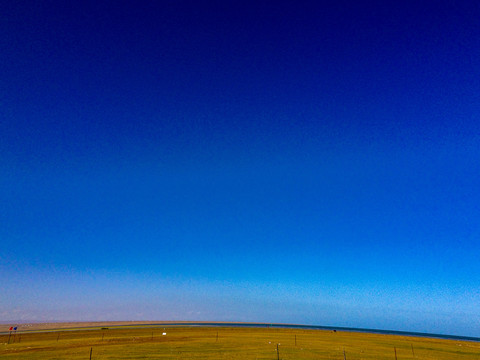
[[[162,335],[163,333],[166,335]],[[480,359],[480,343],[283,328],[106,326],[1,335],[2,359]],[[279,353],[277,354],[277,344]]]

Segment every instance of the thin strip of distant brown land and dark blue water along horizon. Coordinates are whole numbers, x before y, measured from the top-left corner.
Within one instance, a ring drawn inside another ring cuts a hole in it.
[[[72,331],[87,328],[99,327],[150,327],[150,326],[218,326],[218,327],[263,327],[263,328],[289,328],[289,329],[303,329],[303,330],[326,330],[326,331],[345,331],[345,332],[361,332],[374,333],[383,335],[399,335],[399,336],[413,336],[423,338],[438,338],[445,340],[462,340],[480,342],[480,337],[461,336],[461,335],[446,335],[446,334],[431,334],[421,332],[399,331],[399,330],[381,330],[381,329],[366,329],[366,328],[350,328],[350,327],[336,327],[336,326],[321,326],[321,325],[302,325],[302,324],[282,324],[282,323],[252,323],[252,322],[227,322],[227,321],[71,321],[71,322],[2,322],[0,324],[0,334],[8,334],[10,326],[18,326],[18,332],[43,332],[43,331]],[[3,328],[3,329],[2,329]]]

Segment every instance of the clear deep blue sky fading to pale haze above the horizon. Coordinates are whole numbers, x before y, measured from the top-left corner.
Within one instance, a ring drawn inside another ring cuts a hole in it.
[[[480,336],[473,1],[3,1],[0,321]]]

